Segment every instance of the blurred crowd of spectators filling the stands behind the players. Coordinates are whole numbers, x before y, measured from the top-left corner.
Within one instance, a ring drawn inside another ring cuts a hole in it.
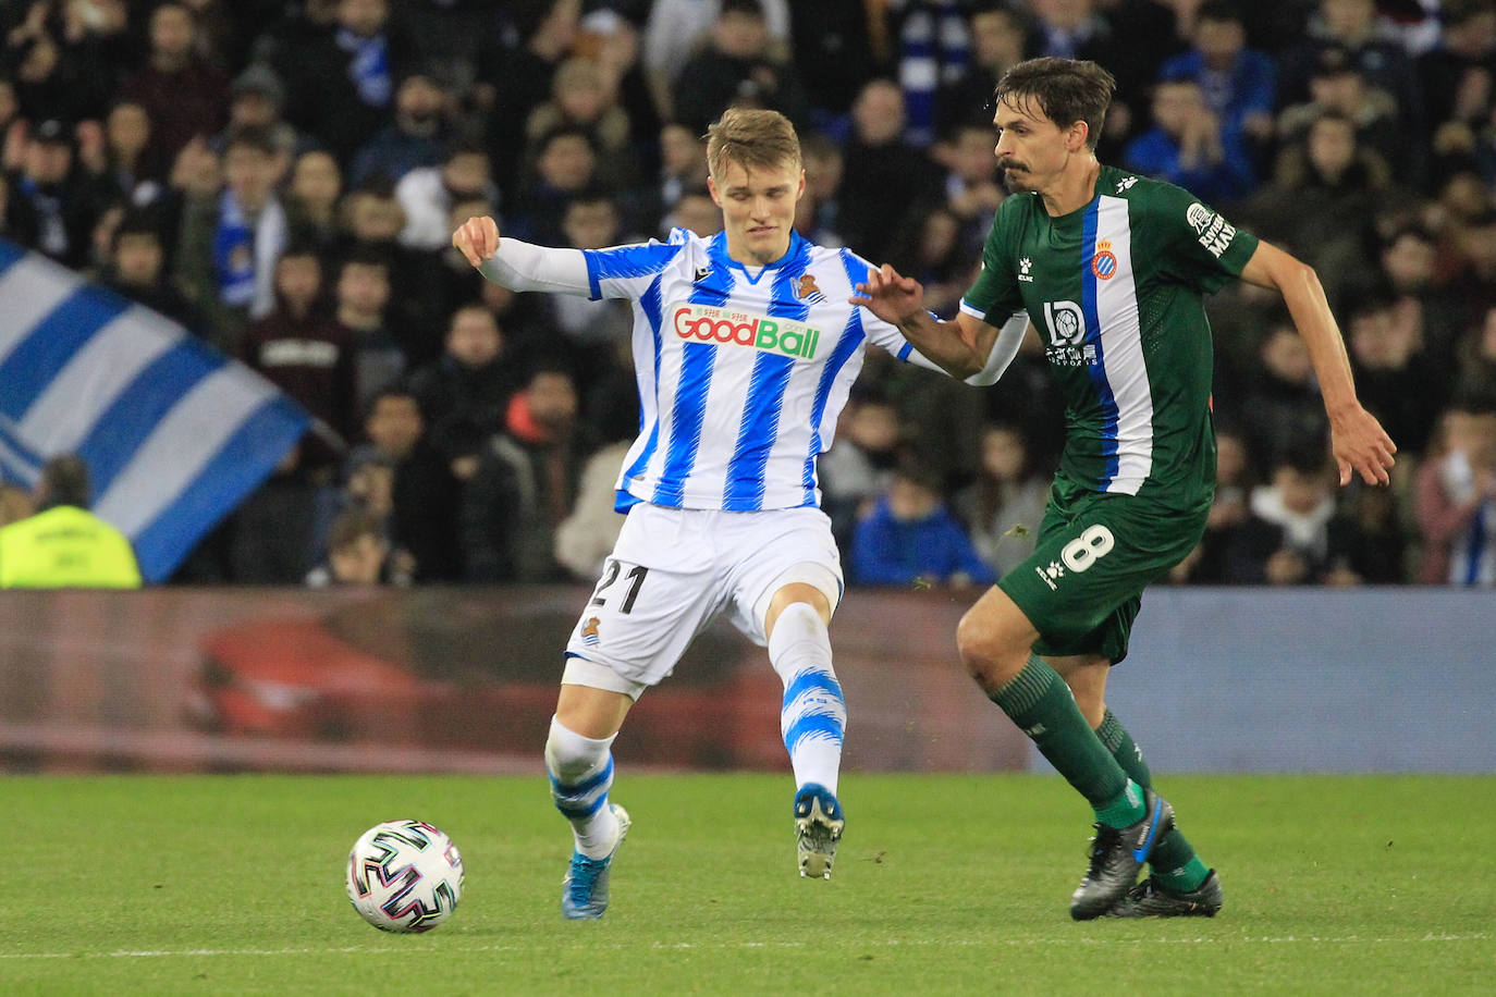
[[[782,111],[799,230],[944,317],[1005,191],[990,94],[1118,78],[1098,155],[1318,268],[1391,489],[1337,487],[1275,296],[1210,300],[1219,489],[1179,583],[1496,583],[1489,0],[13,0],[0,236],[241,357],[314,427],[177,581],[595,578],[637,429],[619,302],[516,296],[450,248],[714,233],[702,133]],[[1031,332],[1032,339],[1032,332]],[[986,583],[1032,549],[1065,414],[869,356],[821,465],[850,581]],[[15,496],[10,496],[13,499]]]

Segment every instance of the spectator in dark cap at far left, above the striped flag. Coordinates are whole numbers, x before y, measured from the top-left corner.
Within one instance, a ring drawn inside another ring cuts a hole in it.
[[[10,175],[9,229],[28,248],[81,268],[105,191],[88,170],[75,169],[69,126],[43,121],[22,142],[21,167]]]

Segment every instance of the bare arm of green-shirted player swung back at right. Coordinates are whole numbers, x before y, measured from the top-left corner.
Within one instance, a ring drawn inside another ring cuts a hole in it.
[[[1340,484],[1349,484],[1352,474],[1360,474],[1367,484],[1388,484],[1391,477],[1387,472],[1393,466],[1397,445],[1355,398],[1345,339],[1324,296],[1319,275],[1303,260],[1269,242],[1258,242],[1252,259],[1242,269],[1242,280],[1276,288],[1309,347],[1324,408],[1330,414],[1330,448],[1340,471]]]

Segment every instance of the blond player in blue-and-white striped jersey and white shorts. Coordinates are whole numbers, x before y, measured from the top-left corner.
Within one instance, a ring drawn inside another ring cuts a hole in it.
[[[766,644],[784,682],[781,731],[794,770],[802,876],[829,877],[844,828],[836,779],[847,709],[827,625],[842,592],[817,456],[874,342],[939,369],[889,323],[851,303],[871,266],[794,232],[805,191],[794,127],[773,111],[727,111],[708,132],[724,230],[610,250],[500,239],[492,218],[453,233],[479,271],[513,290],[633,302],[640,432],[618,475],[622,534],[565,650],[546,740],[552,797],[576,849],[568,918],[607,907],[628,815],[609,803],[610,746],[628,709],[726,616]],[[968,380],[990,384],[1017,335]],[[989,344],[992,345],[992,344]]]

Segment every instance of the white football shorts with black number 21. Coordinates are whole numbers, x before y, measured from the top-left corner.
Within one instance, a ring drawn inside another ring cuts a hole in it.
[[[796,581],[820,589],[835,611],[841,558],[821,510],[726,513],[640,502],[628,510],[571,631],[561,682],[637,700],[723,614],[764,646],[769,602]]]

